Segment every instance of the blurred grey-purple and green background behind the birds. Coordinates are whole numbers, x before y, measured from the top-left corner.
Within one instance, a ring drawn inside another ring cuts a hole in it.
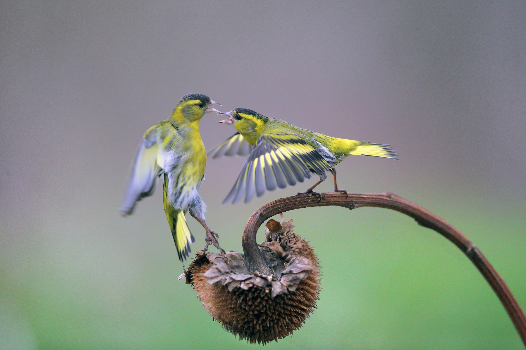
[[[159,191],[119,217],[141,136],[189,92],[393,145],[399,161],[348,158],[340,187],[448,220],[526,307],[524,1],[2,1],[0,45],[2,349],[258,347],[177,281]],[[234,132],[219,119],[201,121],[208,149]],[[200,190],[228,250],[260,205],[316,181],[221,205],[243,162],[209,160]],[[304,327],[267,348],[523,348],[436,232],[372,208],[286,218],[316,248],[323,290]],[[204,232],[189,223],[195,251]]]

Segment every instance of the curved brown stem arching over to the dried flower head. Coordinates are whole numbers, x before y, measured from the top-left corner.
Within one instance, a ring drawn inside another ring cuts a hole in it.
[[[252,214],[245,227],[245,232],[243,232],[243,251],[245,252],[245,259],[250,272],[254,273],[254,271],[259,271],[266,275],[274,274],[272,266],[265,258],[265,255],[260,252],[256,243],[257,230],[265,220],[276,214],[289,210],[309,207],[325,207],[326,205],[338,205],[339,207],[349,209],[379,207],[396,210],[409,215],[423,227],[433,229],[446,237],[458,246],[458,248],[468,256],[469,260],[477,266],[477,269],[479,269],[480,273],[484,276],[486,281],[488,281],[495,294],[499,297],[502,305],[504,305],[504,308],[511,317],[511,321],[519,332],[522,342],[526,346],[526,317],[524,316],[524,312],[504,280],[497,271],[493,269],[493,266],[491,266],[477,246],[447,221],[439,218],[429,210],[411,203],[391,192],[348,194],[334,192],[322,193],[321,200],[319,200],[317,196],[298,194],[265,204]]]

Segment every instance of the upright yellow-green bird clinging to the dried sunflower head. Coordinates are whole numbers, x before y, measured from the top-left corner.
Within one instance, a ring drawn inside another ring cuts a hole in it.
[[[163,203],[179,260],[190,252],[194,236],[186,224],[189,212],[206,230],[206,246],[219,250],[217,234],[205,223],[206,205],[197,192],[203,181],[206,151],[199,133],[199,120],[219,105],[205,95],[183,96],[168,120],[158,122],[143,136],[131,169],[128,189],[120,207],[130,215],[137,201],[154,193],[157,177],[164,175]]]

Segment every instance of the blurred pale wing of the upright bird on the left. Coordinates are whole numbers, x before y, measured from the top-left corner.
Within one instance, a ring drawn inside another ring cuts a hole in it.
[[[140,143],[131,166],[131,176],[124,201],[120,206],[123,215],[130,215],[137,201],[154,194],[155,180],[162,171],[157,165],[158,145],[155,129],[158,126],[159,124],[146,131],[143,141]]]

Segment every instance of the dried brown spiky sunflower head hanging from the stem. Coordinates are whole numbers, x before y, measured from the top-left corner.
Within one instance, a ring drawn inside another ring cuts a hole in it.
[[[185,272],[210,315],[240,339],[265,344],[284,338],[316,308],[318,258],[293,228],[292,220],[269,220],[266,242],[256,248],[272,266],[270,274],[249,273],[244,256],[232,251],[197,251]]]

